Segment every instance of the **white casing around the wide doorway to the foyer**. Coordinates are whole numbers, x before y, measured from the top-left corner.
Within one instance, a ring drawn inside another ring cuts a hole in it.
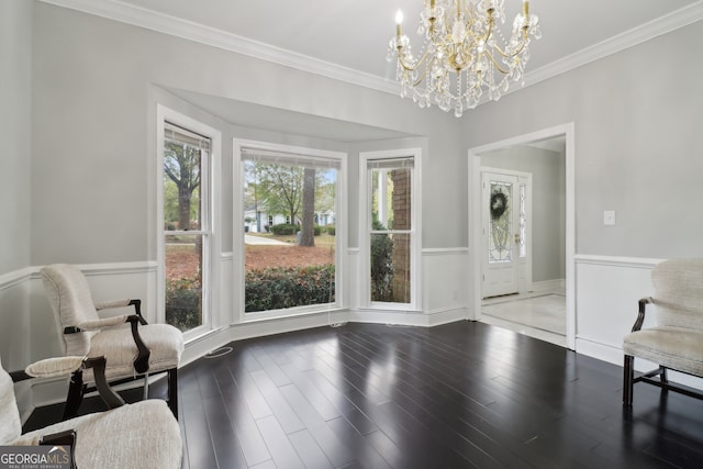
[[[566,306],[567,306],[567,347],[576,349],[576,171],[574,171],[574,124],[573,122],[523,134],[500,142],[478,146],[468,150],[468,233],[469,268],[468,290],[469,309],[467,319],[481,319],[481,154],[494,152],[514,145],[524,145],[535,141],[557,136],[566,137]]]

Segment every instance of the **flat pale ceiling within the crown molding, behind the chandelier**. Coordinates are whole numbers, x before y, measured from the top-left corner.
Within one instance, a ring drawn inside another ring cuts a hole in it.
[[[405,16],[404,32],[415,31],[422,0],[122,0],[186,19],[237,36],[292,51],[372,76],[394,79],[386,60],[395,34],[395,11]],[[701,3],[696,0],[533,0],[543,38],[533,45],[528,70],[565,57]],[[505,0],[505,15],[521,10],[521,0]],[[412,35],[411,35],[412,37]],[[419,47],[419,41],[415,41]]]

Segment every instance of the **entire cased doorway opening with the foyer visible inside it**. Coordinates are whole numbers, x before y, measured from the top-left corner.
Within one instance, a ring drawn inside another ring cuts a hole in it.
[[[518,179],[505,186],[501,172],[529,174],[532,191],[521,194]],[[573,124],[469,150],[469,319],[574,348],[573,179]],[[512,199],[504,210],[511,221],[502,226],[502,208],[491,213],[493,192]],[[514,260],[512,270],[506,259]]]

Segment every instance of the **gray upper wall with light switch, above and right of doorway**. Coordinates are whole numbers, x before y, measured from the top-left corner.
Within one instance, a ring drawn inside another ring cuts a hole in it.
[[[503,97],[466,115],[467,146],[573,122],[577,254],[701,256],[701,44],[698,22]]]

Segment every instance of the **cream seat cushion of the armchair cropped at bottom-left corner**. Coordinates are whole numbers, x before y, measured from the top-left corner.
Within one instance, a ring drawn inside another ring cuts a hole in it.
[[[180,468],[178,422],[161,400],[146,400],[59,422],[22,435],[11,445],[36,445],[43,435],[76,429],[80,469]]]

